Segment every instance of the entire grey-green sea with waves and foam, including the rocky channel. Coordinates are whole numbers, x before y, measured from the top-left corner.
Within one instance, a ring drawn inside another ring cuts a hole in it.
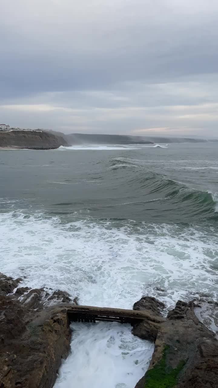
[[[213,143],[0,151],[0,271],[87,305],[217,298],[217,156]],[[55,387],[133,387],[153,347],[130,329],[74,324]]]

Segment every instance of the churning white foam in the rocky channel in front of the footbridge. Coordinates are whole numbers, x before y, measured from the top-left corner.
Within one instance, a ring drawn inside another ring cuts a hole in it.
[[[130,325],[74,323],[72,329],[71,354],[55,388],[133,388],[147,370],[154,346],[134,337]]]

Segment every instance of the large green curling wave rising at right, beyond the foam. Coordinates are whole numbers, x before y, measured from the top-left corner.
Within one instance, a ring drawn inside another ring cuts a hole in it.
[[[126,177],[128,185],[134,187],[135,194],[145,192],[145,202],[161,201],[182,208],[190,216],[216,217],[218,214],[218,193],[201,190],[183,182],[171,179],[155,171],[149,170],[141,161],[128,158],[114,158],[110,167],[118,173],[128,169]],[[131,172],[130,172],[131,170]],[[124,173],[122,177],[124,177]],[[185,205],[185,206],[184,206]],[[176,209],[176,208],[175,208]],[[175,210],[176,211],[176,210]]]

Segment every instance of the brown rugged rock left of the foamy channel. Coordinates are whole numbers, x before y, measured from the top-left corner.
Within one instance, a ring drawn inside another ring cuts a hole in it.
[[[74,302],[62,303],[71,299],[60,290],[52,306],[43,288],[12,294],[20,280],[0,274],[0,387],[51,388],[69,352],[66,311]]]

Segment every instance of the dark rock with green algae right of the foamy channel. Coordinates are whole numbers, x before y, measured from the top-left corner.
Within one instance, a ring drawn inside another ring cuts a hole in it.
[[[140,306],[142,299],[137,302]],[[178,301],[158,326],[150,321],[150,327],[133,327],[133,334],[141,338],[150,335],[155,341],[149,369],[136,388],[154,388],[157,381],[161,388],[218,387],[218,341],[196,317],[194,309],[200,305],[196,301]],[[155,318],[160,315],[156,309],[150,310]]]

